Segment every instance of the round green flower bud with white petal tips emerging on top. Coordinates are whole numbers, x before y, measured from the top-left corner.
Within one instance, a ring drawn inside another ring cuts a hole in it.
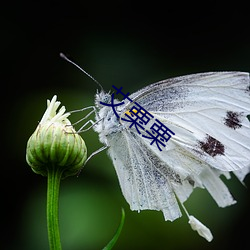
[[[59,168],[62,177],[79,172],[87,158],[86,145],[76,133],[64,106],[56,113],[60,102],[54,96],[47,101],[41,122],[27,143],[26,160],[32,170],[43,176],[50,168]]]

